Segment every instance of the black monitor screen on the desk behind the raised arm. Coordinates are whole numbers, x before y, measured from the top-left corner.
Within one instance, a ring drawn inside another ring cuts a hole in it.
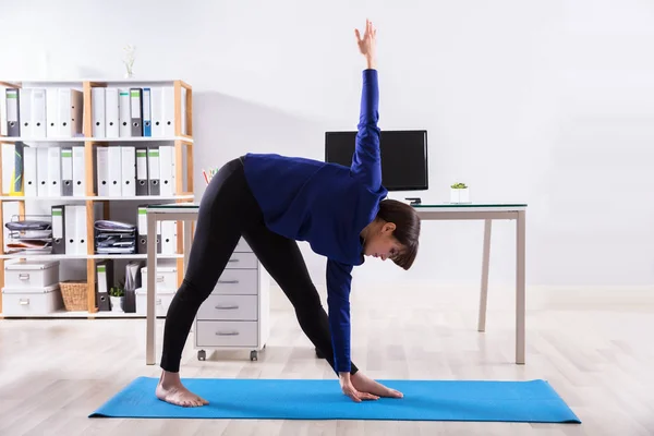
[[[352,165],[356,132],[327,132],[325,161]],[[382,131],[382,184],[388,191],[420,191],[428,187],[427,131]]]

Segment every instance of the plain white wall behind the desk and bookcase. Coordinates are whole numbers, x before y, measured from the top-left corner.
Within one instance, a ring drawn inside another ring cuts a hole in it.
[[[0,78],[121,77],[194,88],[195,180],[246,152],[323,157],[352,129],[378,27],[380,124],[427,129],[431,190],[526,202],[528,281],[654,279],[654,7],[639,0],[0,1]],[[197,183],[196,193],[204,191]],[[347,207],[347,206],[346,206]],[[356,282],[479,282],[483,225],[425,223],[413,270],[370,262]],[[494,228],[492,281],[513,280],[513,227]],[[306,245],[303,245],[306,249]],[[324,259],[307,252],[316,281]]]

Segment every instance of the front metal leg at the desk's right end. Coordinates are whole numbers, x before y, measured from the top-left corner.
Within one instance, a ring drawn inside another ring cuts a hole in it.
[[[524,342],[525,342],[525,229],[526,213],[518,213],[516,221],[516,363],[524,364]]]

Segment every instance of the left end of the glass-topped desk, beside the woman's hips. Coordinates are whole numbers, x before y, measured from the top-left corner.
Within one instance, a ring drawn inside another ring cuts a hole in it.
[[[198,205],[194,203],[174,203],[168,205],[152,205],[146,207],[147,213],[147,303],[146,303],[146,334],[145,334],[145,363],[154,365],[155,359],[155,280],[157,270],[157,222],[183,221],[184,222],[184,271],[189,265],[191,252],[191,221],[197,220]]]

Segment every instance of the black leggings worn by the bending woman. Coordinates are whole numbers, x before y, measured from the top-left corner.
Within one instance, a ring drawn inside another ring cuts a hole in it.
[[[166,317],[161,368],[173,373],[180,371],[182,350],[193,319],[214,290],[241,235],[290,300],[304,334],[334,368],[327,313],[311,281],[302,253],[294,240],[266,227],[245,180],[242,159],[222,167],[202,197],[186,274]],[[356,371],[352,364],[350,373]]]

